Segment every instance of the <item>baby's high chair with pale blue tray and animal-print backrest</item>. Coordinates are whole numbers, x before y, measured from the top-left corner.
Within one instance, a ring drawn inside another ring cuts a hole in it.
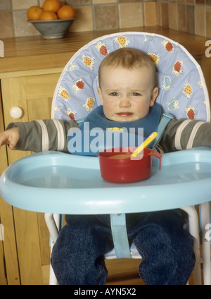
[[[58,80],[51,118],[64,121],[75,119],[80,122],[100,105],[96,91],[98,66],[110,51],[120,47],[140,49],[151,57],[156,66],[159,87],[157,103],[162,106],[165,117],[158,128],[158,138],[153,148],[172,116],[187,118],[186,123],[194,118],[210,121],[207,88],[196,60],[177,42],[146,32],[106,35],[94,39],[77,51]],[[56,121],[55,124],[57,130],[60,130]],[[211,284],[210,242],[207,239],[207,224],[211,222],[208,203],[211,194],[211,151],[210,148],[192,149],[193,138],[200,124],[194,128],[186,150],[162,154],[159,173],[158,163],[153,159],[152,176],[144,183],[116,184],[111,188],[110,183],[104,182],[100,176],[98,157],[46,151],[20,159],[8,167],[1,176],[1,197],[16,207],[44,212],[52,246],[60,230],[60,214],[110,214],[115,248],[105,258],[140,258],[133,244],[129,248],[125,213],[184,209],[188,214],[188,229],[196,240],[194,281],[201,284],[200,263],[203,262],[204,284]],[[181,150],[179,136],[176,142],[177,149]],[[64,140],[59,139],[58,150],[63,148],[63,144]],[[48,150],[47,145],[43,144],[43,149]],[[177,171],[178,164],[181,172]],[[70,169],[64,173],[60,166],[68,166]],[[84,170],[89,171],[90,178],[83,175]],[[73,180],[71,171],[78,171],[79,179]],[[21,193],[18,193],[18,188],[22,190]],[[164,188],[165,193],[161,192]],[[120,191],[121,197],[117,197]],[[29,192],[30,197],[32,195],[30,200],[27,197]],[[36,200],[34,198],[33,201],[35,194]],[[200,205],[202,258],[199,251],[198,214],[194,205]],[[51,269],[50,284],[53,283],[56,283],[56,278]]]

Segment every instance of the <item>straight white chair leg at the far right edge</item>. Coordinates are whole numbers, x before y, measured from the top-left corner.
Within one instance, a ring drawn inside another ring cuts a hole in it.
[[[211,252],[210,252],[210,220],[209,220],[209,202],[200,205],[202,245],[203,245],[203,276],[204,285],[211,285]]]

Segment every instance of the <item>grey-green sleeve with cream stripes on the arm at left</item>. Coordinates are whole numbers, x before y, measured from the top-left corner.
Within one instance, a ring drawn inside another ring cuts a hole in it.
[[[46,119],[26,123],[10,123],[7,129],[15,126],[20,130],[20,140],[15,150],[32,152],[44,152],[46,150],[67,152],[68,130],[72,127],[78,127],[75,121],[65,123],[58,119]]]

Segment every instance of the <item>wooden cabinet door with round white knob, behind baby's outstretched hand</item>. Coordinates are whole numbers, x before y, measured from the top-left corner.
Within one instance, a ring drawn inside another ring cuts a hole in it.
[[[5,126],[12,121],[51,118],[51,101],[60,73],[29,75],[1,80]],[[11,118],[10,110],[19,106],[23,116]],[[32,152],[8,149],[8,163]],[[30,194],[29,194],[30,197]],[[13,208],[21,284],[46,284],[49,276],[49,232],[44,214]]]

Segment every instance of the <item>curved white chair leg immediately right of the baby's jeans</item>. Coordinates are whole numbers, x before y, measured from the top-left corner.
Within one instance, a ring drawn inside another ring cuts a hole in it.
[[[191,236],[193,236],[194,242],[194,252],[196,255],[196,264],[193,269],[193,279],[194,284],[201,285],[201,269],[200,269],[200,241],[199,241],[199,228],[198,228],[198,214],[194,207],[183,207],[183,209],[188,214],[189,221],[189,231]]]

